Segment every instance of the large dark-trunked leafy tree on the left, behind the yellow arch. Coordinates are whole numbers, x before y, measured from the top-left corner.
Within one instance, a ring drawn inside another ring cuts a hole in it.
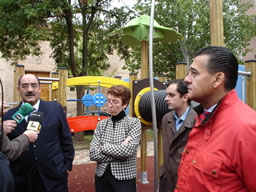
[[[50,42],[58,67],[70,76],[100,74],[109,67],[106,38],[129,19],[125,8],[111,8],[111,0],[2,0],[0,1],[0,52],[13,64],[28,55],[40,55],[40,40]],[[77,87],[77,98],[84,87]],[[77,102],[77,115],[83,114]]]

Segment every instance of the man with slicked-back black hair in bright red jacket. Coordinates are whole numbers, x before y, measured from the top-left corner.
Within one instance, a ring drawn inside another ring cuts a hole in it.
[[[237,97],[237,75],[237,59],[224,47],[200,50],[190,66],[188,96],[205,111],[190,132],[175,191],[256,191],[256,112]]]

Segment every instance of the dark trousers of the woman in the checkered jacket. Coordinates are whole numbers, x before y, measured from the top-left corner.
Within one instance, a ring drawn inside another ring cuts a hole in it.
[[[136,178],[117,180],[108,165],[102,177],[95,176],[95,192],[136,192]]]

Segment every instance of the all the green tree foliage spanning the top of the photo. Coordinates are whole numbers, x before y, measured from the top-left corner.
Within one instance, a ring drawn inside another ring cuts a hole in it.
[[[112,8],[111,2],[1,0],[2,57],[17,63],[27,55],[40,55],[38,42],[47,40],[57,66],[68,67],[70,76],[99,75],[109,67],[106,55],[114,50],[125,59],[124,69],[137,72],[141,64],[140,47],[129,48],[119,41],[120,36],[108,34],[139,15],[150,15],[151,0],[138,0],[133,9]],[[255,17],[245,14],[250,6],[240,0],[223,0],[225,46],[238,58],[246,55],[249,40],[256,35]],[[210,45],[209,0],[157,1],[155,20],[184,37],[176,43],[154,42],[155,75],[164,73],[174,78],[177,62],[190,64],[200,48]]]

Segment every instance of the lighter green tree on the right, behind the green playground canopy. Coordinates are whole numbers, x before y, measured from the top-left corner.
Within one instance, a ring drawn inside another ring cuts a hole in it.
[[[139,0],[134,9],[139,15],[150,15],[150,2]],[[254,17],[246,15],[250,6],[240,0],[223,0],[225,45],[238,58],[246,55],[249,51],[246,47],[256,35]],[[160,25],[177,29],[183,39],[177,43],[154,44],[155,75],[167,72],[169,78],[174,78],[178,61],[185,61],[189,65],[199,49],[210,45],[209,12],[209,0],[166,0],[156,3],[155,20]],[[119,53],[126,59],[125,67],[138,70],[140,55],[124,52],[121,49]]]

